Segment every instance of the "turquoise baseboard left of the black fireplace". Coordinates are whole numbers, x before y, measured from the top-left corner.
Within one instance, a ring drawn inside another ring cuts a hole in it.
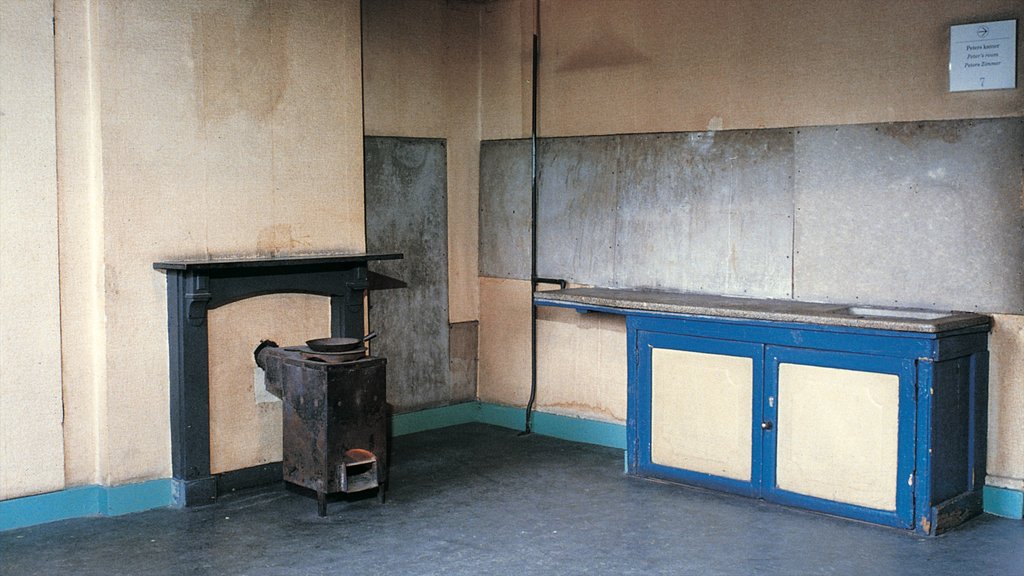
[[[171,503],[170,479],[113,487],[81,486],[0,501],[0,530],[72,518],[120,516]]]

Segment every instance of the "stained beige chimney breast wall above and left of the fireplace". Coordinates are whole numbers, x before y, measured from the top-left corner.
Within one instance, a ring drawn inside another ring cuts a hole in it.
[[[98,29],[118,484],[169,474],[167,363],[145,362],[167,355],[153,261],[362,249],[359,20],[353,1],[104,2]],[[211,351],[213,374],[251,372],[251,355]]]

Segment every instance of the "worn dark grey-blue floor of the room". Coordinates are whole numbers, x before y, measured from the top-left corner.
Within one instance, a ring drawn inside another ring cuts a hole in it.
[[[0,575],[1024,574],[1024,523],[938,538],[637,480],[618,450],[466,424],[395,439],[388,501],[282,486],[0,533]]]

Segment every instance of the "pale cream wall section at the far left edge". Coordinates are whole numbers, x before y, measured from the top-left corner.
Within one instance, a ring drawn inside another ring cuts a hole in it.
[[[51,16],[0,3],[0,499],[65,480]]]

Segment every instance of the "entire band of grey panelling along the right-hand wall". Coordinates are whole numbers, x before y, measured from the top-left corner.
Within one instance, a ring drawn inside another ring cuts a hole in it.
[[[484,276],[528,278],[518,141],[484,145]],[[543,138],[538,273],[1021,314],[1022,156],[1021,119]]]

